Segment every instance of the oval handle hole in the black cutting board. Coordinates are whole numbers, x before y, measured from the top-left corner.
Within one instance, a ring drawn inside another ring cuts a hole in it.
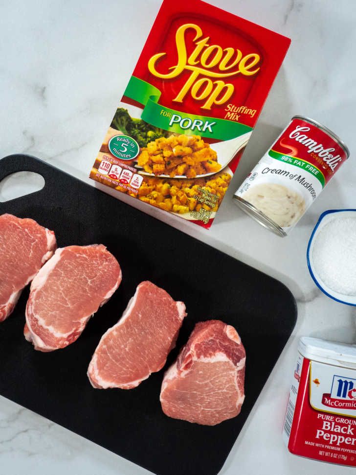
[[[40,191],[45,186],[45,179],[33,171],[17,171],[0,181],[0,202],[10,201],[30,193]]]

